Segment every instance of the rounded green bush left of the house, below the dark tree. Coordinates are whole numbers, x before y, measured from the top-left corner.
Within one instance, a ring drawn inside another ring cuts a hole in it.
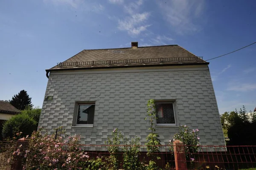
[[[19,114],[12,116],[3,124],[2,135],[3,138],[12,139],[15,134],[23,132],[23,136],[31,135],[31,133],[37,129],[37,122],[33,120],[29,115]]]

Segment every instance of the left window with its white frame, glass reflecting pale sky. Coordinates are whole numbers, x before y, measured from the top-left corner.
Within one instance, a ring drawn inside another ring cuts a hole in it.
[[[77,104],[76,126],[93,127],[95,103]]]

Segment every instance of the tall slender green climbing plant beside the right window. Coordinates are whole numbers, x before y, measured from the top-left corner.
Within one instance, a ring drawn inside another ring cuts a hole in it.
[[[145,145],[147,146],[147,156],[151,156],[151,160],[149,161],[147,169],[151,170],[152,168],[156,169],[156,163],[154,162],[154,158],[157,158],[157,160],[160,159],[160,157],[156,156],[157,154],[155,153],[159,152],[161,141],[159,139],[159,134],[155,133],[156,130],[154,128],[154,121],[157,119],[157,117],[155,111],[156,107],[153,99],[150,99],[148,101],[147,107],[148,123],[150,125],[148,130],[151,130],[151,133],[149,133],[146,137],[147,142],[145,143]],[[147,118],[145,118],[144,120],[147,120]]]

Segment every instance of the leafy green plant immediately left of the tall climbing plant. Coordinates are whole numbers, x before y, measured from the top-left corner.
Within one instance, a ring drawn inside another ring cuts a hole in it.
[[[131,142],[128,145],[128,139],[125,139],[123,148],[123,168],[125,170],[138,170],[140,169],[140,138],[137,136],[131,138]]]

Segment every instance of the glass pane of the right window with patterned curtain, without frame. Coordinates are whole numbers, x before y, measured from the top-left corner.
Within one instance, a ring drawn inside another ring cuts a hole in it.
[[[172,103],[157,103],[157,124],[175,124]]]

